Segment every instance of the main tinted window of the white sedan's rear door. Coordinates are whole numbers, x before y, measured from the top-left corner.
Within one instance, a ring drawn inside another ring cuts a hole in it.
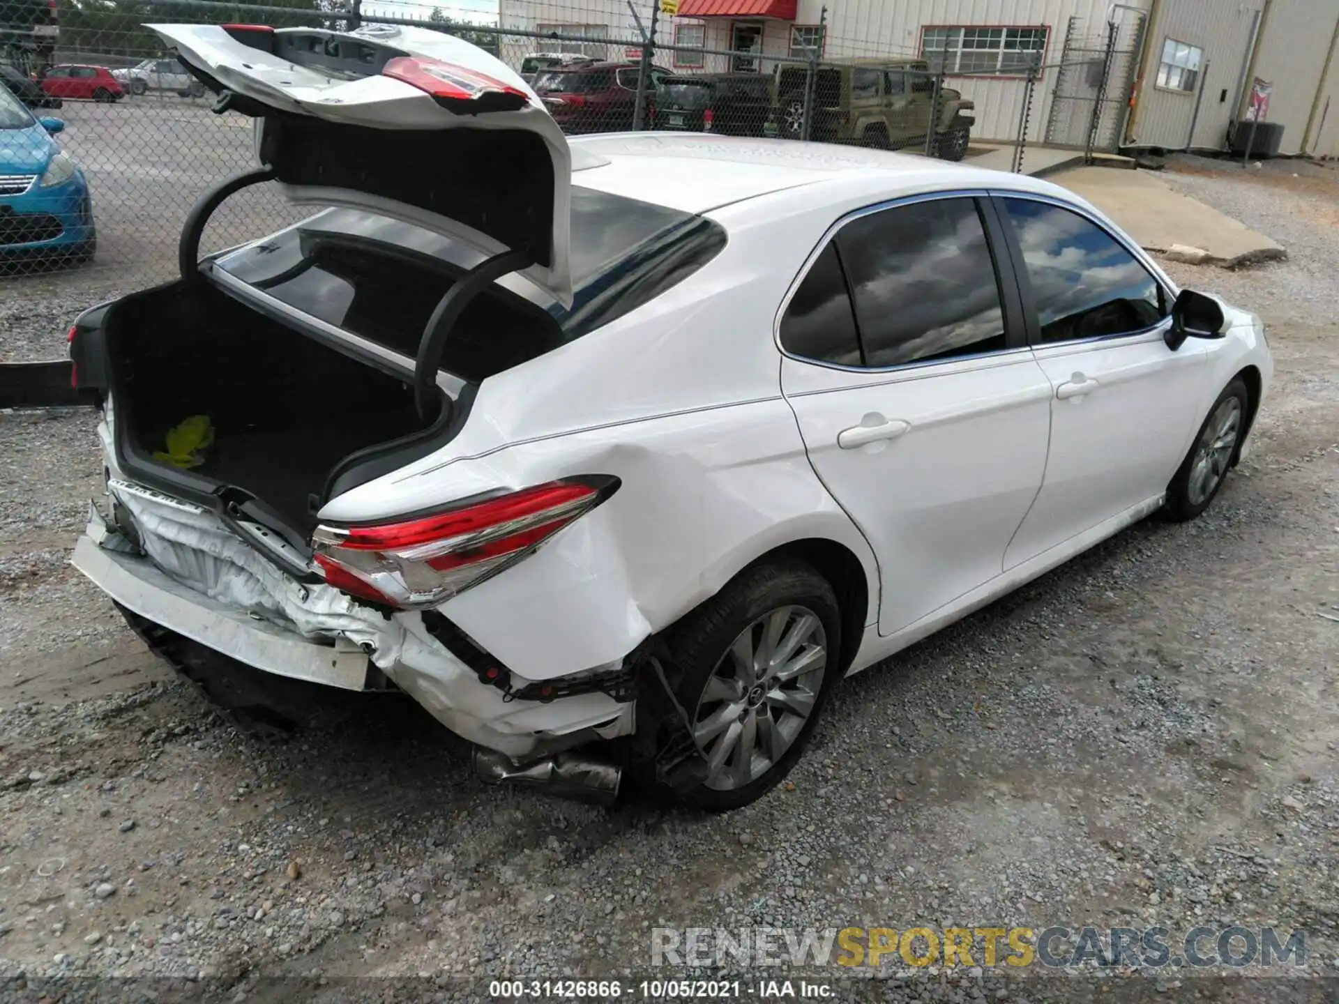
[[[1004,348],[995,262],[976,203],[894,206],[837,234],[870,367]]]

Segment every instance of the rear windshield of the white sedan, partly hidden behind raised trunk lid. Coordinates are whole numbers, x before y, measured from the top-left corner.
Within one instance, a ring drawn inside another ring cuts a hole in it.
[[[570,341],[655,299],[724,244],[724,230],[703,217],[573,186],[572,307],[520,276],[493,292],[546,317]],[[412,357],[438,301],[478,261],[477,252],[420,226],[329,209],[214,264],[301,313]]]

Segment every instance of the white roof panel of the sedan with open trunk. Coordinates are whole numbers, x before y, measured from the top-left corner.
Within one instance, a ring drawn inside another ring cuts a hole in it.
[[[570,145],[573,185],[686,213],[710,213],[799,186],[807,186],[814,207],[825,199],[842,203],[861,190],[890,199],[984,187],[1059,194],[1083,203],[1039,178],[856,146],[694,133],[605,133],[573,137]]]

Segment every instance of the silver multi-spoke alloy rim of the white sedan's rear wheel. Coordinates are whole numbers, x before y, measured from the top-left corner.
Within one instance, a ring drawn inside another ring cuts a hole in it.
[[[829,659],[822,621],[806,606],[779,606],[739,632],[694,714],[708,788],[744,787],[786,755],[814,712]]]

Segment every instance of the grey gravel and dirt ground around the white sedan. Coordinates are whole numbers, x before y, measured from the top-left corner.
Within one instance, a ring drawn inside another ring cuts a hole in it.
[[[63,564],[96,490],[90,418],[0,416],[0,979],[28,981],[0,987],[382,999],[406,977],[455,1000],[499,975],[652,975],[655,926],[996,922],[1303,928],[1297,973],[1335,977],[1339,186],[1189,167],[1173,183],[1291,253],[1172,266],[1271,324],[1251,459],[1198,521],[1139,523],[845,681],[793,784],[726,817],[485,787],[394,697],[337,734],[241,738]],[[711,972],[759,975],[736,969]],[[1177,975],[1094,999],[1295,989]],[[844,993],[876,989],[1082,996],[1002,969]]]

